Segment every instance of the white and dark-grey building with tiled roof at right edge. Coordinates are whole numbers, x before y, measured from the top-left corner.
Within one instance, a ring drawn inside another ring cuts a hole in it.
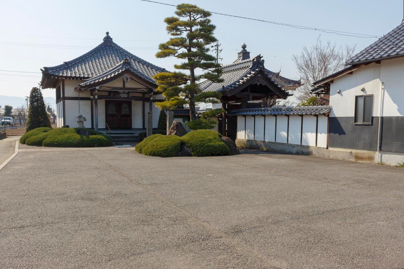
[[[314,83],[329,94],[328,147],[358,160],[404,162],[404,23]]]

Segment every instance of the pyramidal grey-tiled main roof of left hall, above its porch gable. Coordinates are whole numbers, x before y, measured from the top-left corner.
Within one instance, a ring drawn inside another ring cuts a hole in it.
[[[103,42],[88,53],[61,65],[44,67],[41,69],[42,73],[63,78],[89,79],[110,71],[128,58],[130,65],[137,70],[138,74],[156,83],[153,76],[164,71],[164,68],[153,65],[121,48],[112,41],[108,32],[106,34]]]

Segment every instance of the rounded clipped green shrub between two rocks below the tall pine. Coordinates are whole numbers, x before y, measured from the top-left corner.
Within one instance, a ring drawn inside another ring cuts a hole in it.
[[[229,155],[230,149],[220,137],[212,130],[195,130],[181,137],[181,141],[191,149],[192,156]]]

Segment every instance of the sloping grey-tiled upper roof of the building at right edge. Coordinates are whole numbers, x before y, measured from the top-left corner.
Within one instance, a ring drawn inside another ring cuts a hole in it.
[[[345,65],[368,63],[402,56],[404,56],[404,23],[401,23],[375,43],[351,57],[346,61]]]

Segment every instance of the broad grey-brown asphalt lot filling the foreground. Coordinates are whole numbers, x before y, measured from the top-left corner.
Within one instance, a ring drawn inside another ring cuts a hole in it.
[[[0,267],[402,268],[403,175],[261,151],[23,146],[0,171]]]

